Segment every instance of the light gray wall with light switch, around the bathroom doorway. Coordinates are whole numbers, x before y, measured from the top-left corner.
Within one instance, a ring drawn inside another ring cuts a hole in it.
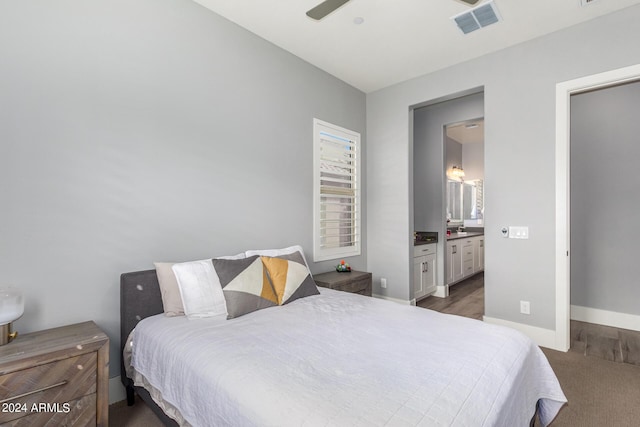
[[[367,95],[367,262],[389,295],[409,294],[409,108],[484,86],[485,314],[555,329],[556,84],[640,63],[638,22],[629,7]],[[504,239],[505,225],[530,238]]]

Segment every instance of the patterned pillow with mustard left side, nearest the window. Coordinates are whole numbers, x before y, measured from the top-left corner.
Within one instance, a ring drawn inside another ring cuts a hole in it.
[[[278,305],[320,294],[300,252],[278,257],[263,256],[262,262],[278,297]]]

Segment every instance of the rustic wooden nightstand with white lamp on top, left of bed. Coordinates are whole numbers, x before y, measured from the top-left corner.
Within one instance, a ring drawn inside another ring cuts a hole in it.
[[[93,322],[0,347],[0,425],[108,426],[109,338]]]

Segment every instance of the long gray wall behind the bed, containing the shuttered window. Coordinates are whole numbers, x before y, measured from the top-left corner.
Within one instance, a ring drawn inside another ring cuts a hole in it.
[[[365,111],[362,92],[189,0],[2,2],[0,281],[24,290],[17,329],[93,319],[116,375],[120,273],[310,255],[313,118],[361,132],[366,153]]]

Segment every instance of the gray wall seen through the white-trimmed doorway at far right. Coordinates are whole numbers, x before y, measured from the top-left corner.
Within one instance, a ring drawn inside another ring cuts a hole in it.
[[[640,315],[640,82],[571,97],[571,304]]]

